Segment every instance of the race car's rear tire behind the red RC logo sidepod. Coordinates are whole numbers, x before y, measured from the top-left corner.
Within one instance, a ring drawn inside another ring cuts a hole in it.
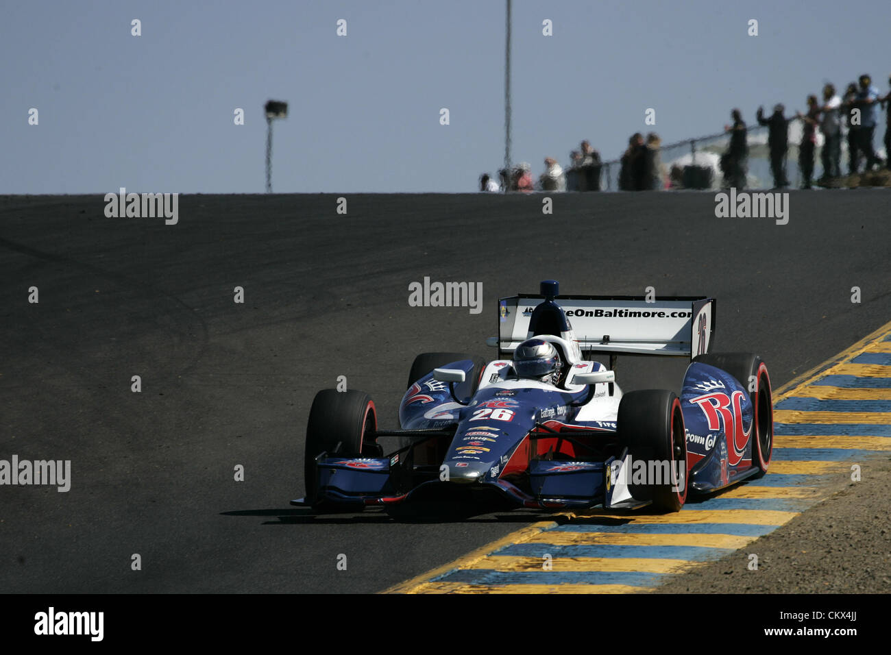
[[[748,391],[755,415],[752,419],[752,466],[758,469],[755,478],[767,472],[773,456],[773,395],[767,365],[753,353],[707,353],[694,362],[715,366],[730,373]],[[751,388],[754,382],[755,388]]]

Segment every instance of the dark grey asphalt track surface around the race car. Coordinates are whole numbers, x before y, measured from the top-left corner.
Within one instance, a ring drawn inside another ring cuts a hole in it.
[[[0,198],[0,459],[72,468],[68,493],[0,487],[0,590],[375,592],[544,518],[288,504],[317,389],[346,375],[394,417],[417,353],[493,356],[495,300],[542,279],[714,296],[714,348],[761,354],[774,387],[891,318],[884,190],[791,192],[788,225],[715,218],[699,192],[558,195],[551,216],[541,195],[345,197],[346,216],[330,194],[182,196],[177,225]],[[483,313],[409,307],[424,276],[483,282]],[[617,368],[625,390],[681,373]]]

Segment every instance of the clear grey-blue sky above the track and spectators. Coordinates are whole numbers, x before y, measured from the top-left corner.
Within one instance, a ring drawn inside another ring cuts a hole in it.
[[[290,104],[275,192],[474,191],[503,161],[504,7],[5,2],[0,192],[263,192],[270,98]],[[513,160],[537,174],[583,138],[615,159],[636,131],[712,134],[863,72],[885,94],[889,26],[888,0],[515,0]]]

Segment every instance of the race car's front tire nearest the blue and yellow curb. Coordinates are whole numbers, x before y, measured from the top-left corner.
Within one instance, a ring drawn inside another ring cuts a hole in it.
[[[631,494],[639,500],[651,500],[659,510],[679,511],[687,500],[688,479],[687,438],[680,399],[665,389],[629,391],[618,405],[617,427],[618,437],[628,447],[632,459],[647,461],[648,471],[650,461],[670,462],[667,481],[632,484]],[[678,479],[678,475],[683,479]]]

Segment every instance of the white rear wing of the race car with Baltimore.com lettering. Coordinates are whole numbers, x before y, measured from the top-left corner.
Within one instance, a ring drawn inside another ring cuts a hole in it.
[[[529,319],[543,295],[498,300],[499,356],[533,336]],[[690,357],[708,352],[715,332],[715,299],[695,296],[556,296],[583,351]],[[560,336],[560,335],[558,335]]]

